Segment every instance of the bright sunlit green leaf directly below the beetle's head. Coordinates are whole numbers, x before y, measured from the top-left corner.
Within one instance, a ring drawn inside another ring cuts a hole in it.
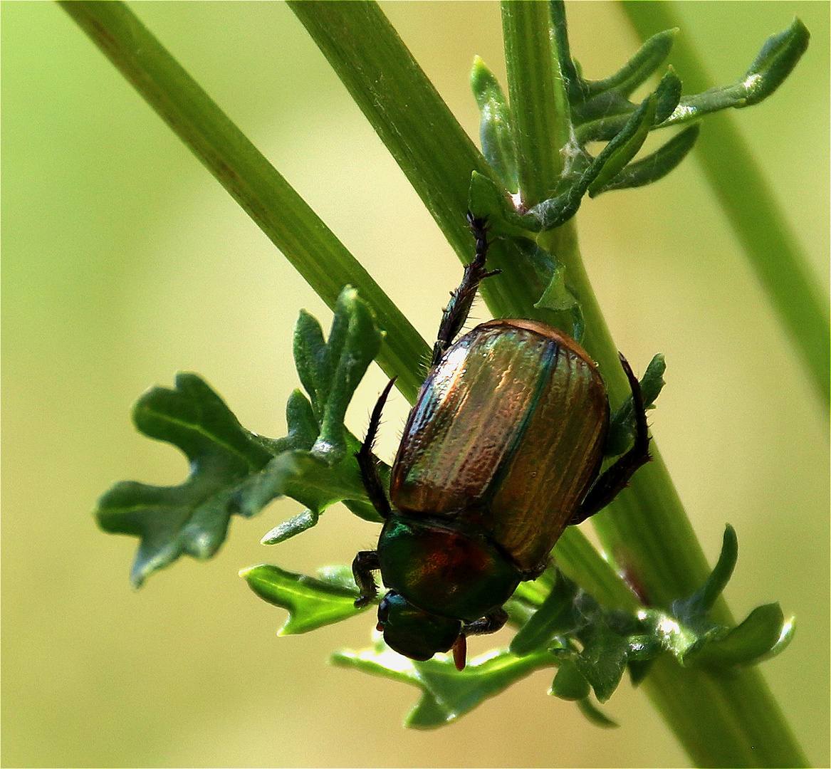
[[[508,651],[494,650],[471,660],[459,672],[446,655],[441,656],[423,663],[413,662],[391,651],[379,639],[375,648],[332,654],[332,664],[420,688],[420,701],[405,721],[407,727],[415,729],[435,729],[453,722],[520,678],[553,664],[548,652],[515,657]]]

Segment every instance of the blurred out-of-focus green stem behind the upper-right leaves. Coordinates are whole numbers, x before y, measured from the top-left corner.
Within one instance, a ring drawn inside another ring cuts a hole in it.
[[[622,2],[622,7],[643,40],[663,29],[684,27],[666,0]],[[686,31],[676,38],[671,61],[682,73],[686,92],[699,93],[715,85]],[[708,116],[695,154],[827,408],[831,372],[828,302],[732,115]]]

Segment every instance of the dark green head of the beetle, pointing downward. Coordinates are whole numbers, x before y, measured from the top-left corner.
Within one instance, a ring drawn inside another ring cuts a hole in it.
[[[423,662],[436,652],[448,651],[461,628],[460,619],[417,609],[395,590],[390,590],[378,605],[378,629],[383,631],[386,645],[411,659]]]

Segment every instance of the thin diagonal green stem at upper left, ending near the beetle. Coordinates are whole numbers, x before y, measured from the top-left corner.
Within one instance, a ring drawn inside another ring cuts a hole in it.
[[[330,308],[360,291],[387,333],[378,363],[413,400],[430,348],[326,224],[123,2],[60,4]]]

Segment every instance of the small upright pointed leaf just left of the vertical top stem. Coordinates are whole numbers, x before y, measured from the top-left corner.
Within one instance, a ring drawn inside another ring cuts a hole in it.
[[[519,190],[517,148],[508,100],[493,72],[481,58],[474,59],[470,87],[479,105],[482,154],[506,190]]]

